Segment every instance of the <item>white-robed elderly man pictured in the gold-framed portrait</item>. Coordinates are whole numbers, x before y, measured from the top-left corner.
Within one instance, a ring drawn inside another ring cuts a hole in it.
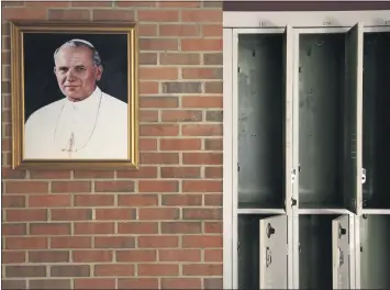
[[[54,72],[65,98],[35,111],[25,123],[30,159],[127,158],[127,104],[100,90],[103,74],[94,46],[71,40],[54,53]]]

